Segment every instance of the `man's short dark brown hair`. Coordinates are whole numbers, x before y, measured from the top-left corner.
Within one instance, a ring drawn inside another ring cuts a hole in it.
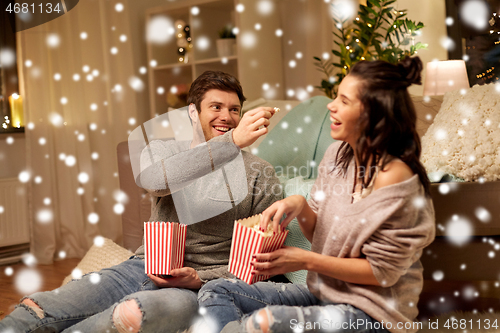
[[[212,89],[236,93],[242,107],[243,102],[246,101],[246,97],[243,96],[243,89],[237,78],[221,71],[205,71],[191,84],[187,100],[188,104],[193,103],[198,113],[200,113],[201,101],[205,97],[205,93]]]

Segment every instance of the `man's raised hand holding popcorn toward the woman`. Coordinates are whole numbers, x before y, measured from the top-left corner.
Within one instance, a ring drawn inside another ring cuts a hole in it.
[[[234,143],[240,148],[245,148],[257,141],[259,137],[268,132],[269,119],[275,112],[272,107],[260,107],[246,112],[233,131]]]

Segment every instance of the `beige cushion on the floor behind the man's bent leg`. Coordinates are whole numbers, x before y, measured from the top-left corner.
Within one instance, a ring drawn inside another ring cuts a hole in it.
[[[72,279],[81,278],[84,274],[97,272],[103,268],[118,265],[134,255],[111,239],[103,239],[104,242],[102,245],[92,245],[87,254],[85,254],[85,257],[76,265],[73,272],[64,279],[62,285],[65,285]]]

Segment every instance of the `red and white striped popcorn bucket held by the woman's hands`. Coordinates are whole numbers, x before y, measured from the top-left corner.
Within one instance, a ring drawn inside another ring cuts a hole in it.
[[[261,215],[234,221],[233,242],[229,256],[229,272],[237,278],[252,284],[268,279],[270,276],[252,275],[253,267],[250,265],[252,255],[256,253],[273,252],[283,246],[288,230],[273,234],[271,224],[268,231],[258,230]]]

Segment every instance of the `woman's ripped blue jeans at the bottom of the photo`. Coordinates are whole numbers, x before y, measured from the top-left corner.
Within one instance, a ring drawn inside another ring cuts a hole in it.
[[[263,316],[269,332],[273,333],[389,332],[360,309],[349,304],[321,302],[300,284],[248,285],[236,279],[217,279],[201,288],[198,305],[214,332],[223,328],[228,333],[262,332]]]

